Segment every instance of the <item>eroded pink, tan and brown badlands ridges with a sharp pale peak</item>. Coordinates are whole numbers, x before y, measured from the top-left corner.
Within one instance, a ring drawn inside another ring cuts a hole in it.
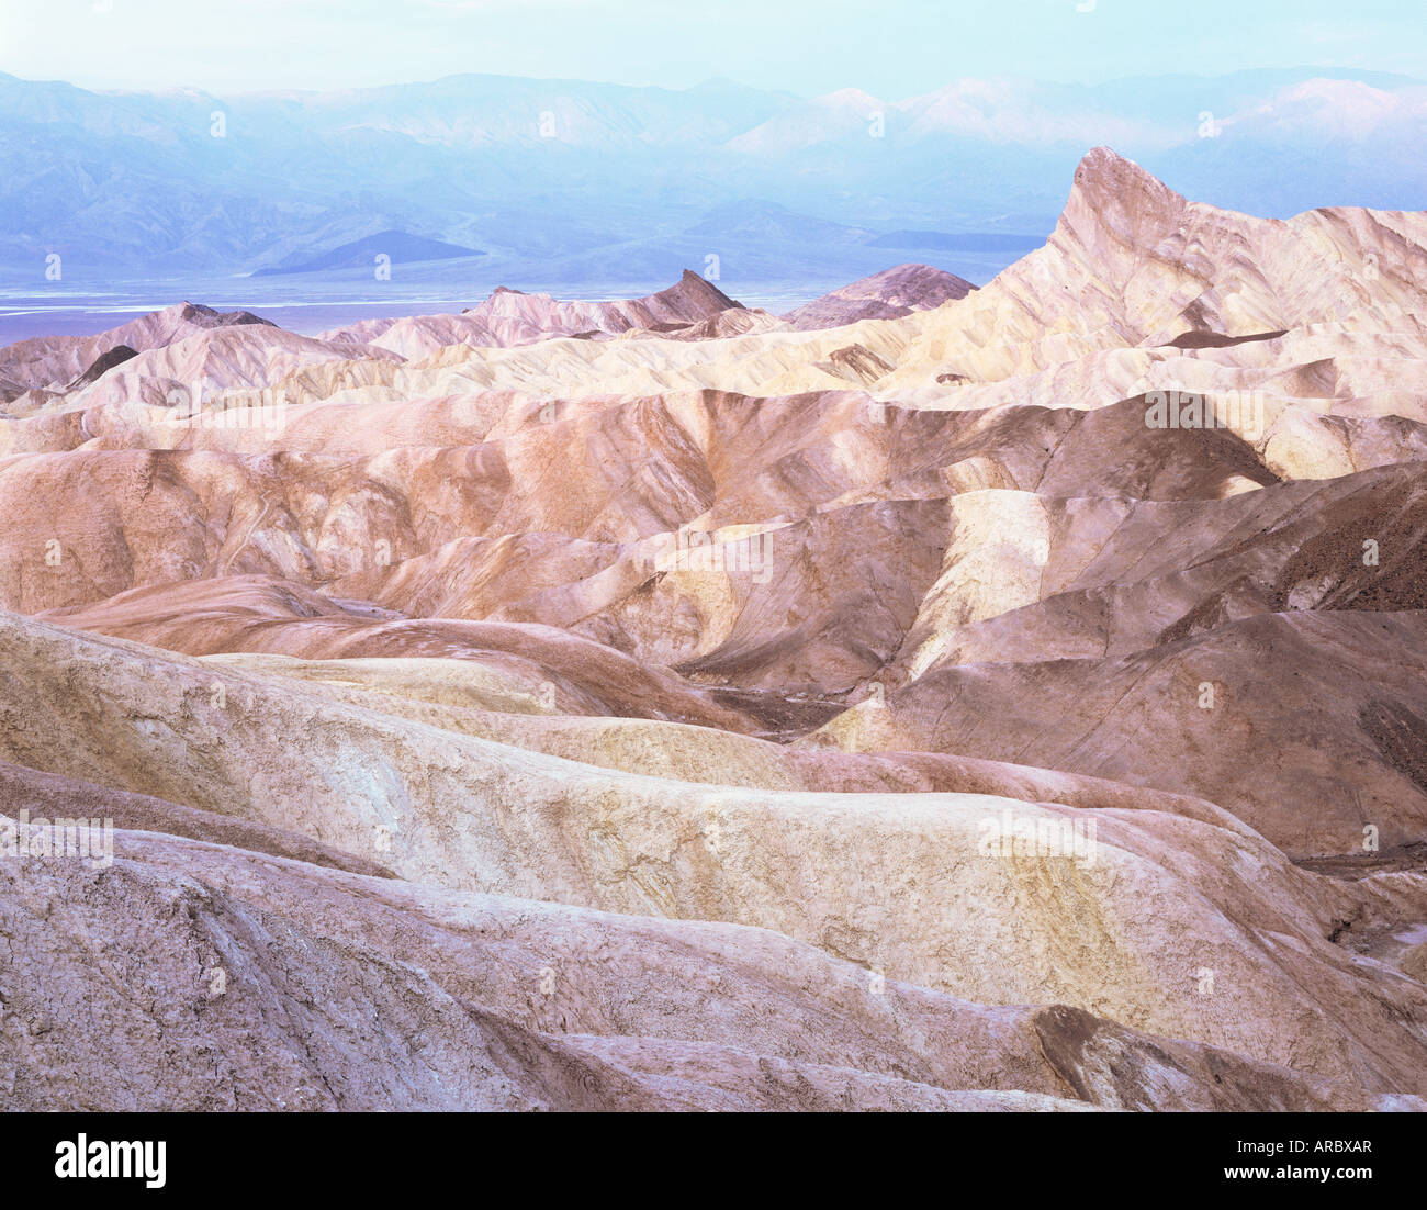
[[[1427,1107],[1427,214],[184,302],[0,514],[0,1104]]]

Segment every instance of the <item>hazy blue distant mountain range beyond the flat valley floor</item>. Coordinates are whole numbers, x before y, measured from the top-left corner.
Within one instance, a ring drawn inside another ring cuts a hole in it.
[[[497,76],[217,97],[0,74],[0,278],[53,281],[54,254],[66,288],[311,273],[331,268],[315,250],[340,268],[372,231],[481,248],[514,281],[656,281],[708,254],[741,285],[783,267],[836,281],[883,268],[892,244],[859,233],[888,231],[945,234],[915,247],[993,273],[1025,247],[1006,240],[1052,230],[1096,143],[1271,217],[1427,204],[1427,161],[1403,154],[1427,146],[1427,87],[1367,73],[958,80],[898,101]]]

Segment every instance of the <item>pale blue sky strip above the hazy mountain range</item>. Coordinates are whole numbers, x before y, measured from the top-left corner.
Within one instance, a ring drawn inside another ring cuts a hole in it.
[[[217,94],[475,71],[903,100],[968,76],[1427,78],[1424,17],[1424,0],[0,0],[0,71]]]

